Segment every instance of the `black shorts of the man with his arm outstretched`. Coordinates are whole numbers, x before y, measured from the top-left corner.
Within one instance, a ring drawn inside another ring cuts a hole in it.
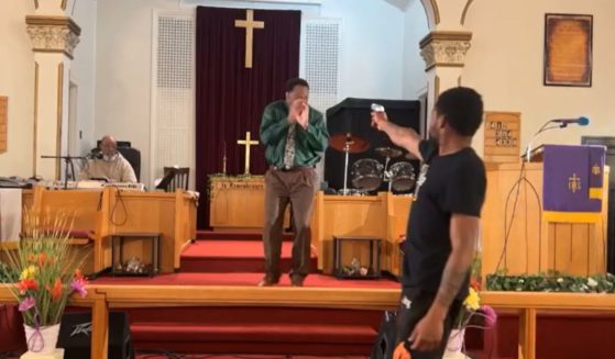
[[[436,299],[436,293],[428,293],[416,288],[404,288],[399,302],[399,313],[397,315],[397,344],[406,341],[406,348],[409,349],[408,338],[415,326],[427,314],[431,307],[431,303]],[[461,301],[454,300],[449,308],[449,314],[444,319],[444,332],[440,348],[432,351],[410,350],[413,359],[441,359],[447,348],[447,343],[457,318],[457,314],[461,308]]]

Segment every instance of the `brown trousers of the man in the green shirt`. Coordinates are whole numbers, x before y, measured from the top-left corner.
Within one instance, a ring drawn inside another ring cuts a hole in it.
[[[317,184],[318,175],[314,167],[287,171],[270,168],[265,173],[265,277],[273,282],[277,282],[281,276],[282,227],[288,202],[293,205],[295,221],[290,277],[303,279],[309,272],[310,221]]]

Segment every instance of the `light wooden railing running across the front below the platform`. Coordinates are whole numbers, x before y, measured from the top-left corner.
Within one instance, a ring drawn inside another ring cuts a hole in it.
[[[519,359],[536,358],[536,317],[543,311],[615,311],[613,294],[482,292],[482,303],[520,314]],[[254,288],[204,285],[89,285],[72,305],[92,308],[91,358],[107,358],[109,308],[155,306],[296,306],[395,310],[399,290],[339,288]],[[0,303],[14,303],[0,284]]]

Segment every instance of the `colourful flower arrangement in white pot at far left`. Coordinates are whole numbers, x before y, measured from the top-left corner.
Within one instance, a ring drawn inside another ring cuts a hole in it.
[[[86,296],[87,282],[79,270],[83,257],[69,248],[66,216],[58,215],[53,223],[37,218],[25,213],[26,232],[17,250],[8,251],[10,270],[19,273],[11,276],[14,284],[9,288],[23,315],[30,351],[50,354],[57,335],[45,344],[43,330],[59,329],[68,298],[75,292]]]

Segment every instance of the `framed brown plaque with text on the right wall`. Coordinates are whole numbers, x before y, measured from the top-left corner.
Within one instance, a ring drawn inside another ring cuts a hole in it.
[[[545,15],[545,86],[592,86],[592,15]]]

